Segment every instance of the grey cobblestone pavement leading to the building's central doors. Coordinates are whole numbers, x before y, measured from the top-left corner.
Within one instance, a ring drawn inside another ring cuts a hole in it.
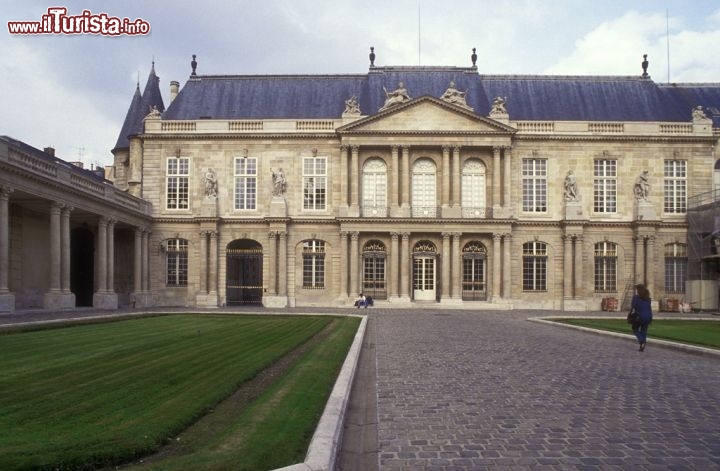
[[[720,469],[720,357],[551,314],[373,311],[380,469]]]

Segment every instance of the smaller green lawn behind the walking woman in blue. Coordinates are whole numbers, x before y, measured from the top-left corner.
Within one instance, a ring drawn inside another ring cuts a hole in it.
[[[557,319],[557,321],[564,324],[632,334],[632,330],[625,319],[580,318]],[[713,320],[656,319],[650,324],[648,338],[720,348],[720,322]]]

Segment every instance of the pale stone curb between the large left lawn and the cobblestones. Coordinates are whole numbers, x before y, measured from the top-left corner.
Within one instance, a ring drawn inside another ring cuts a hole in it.
[[[315,434],[310,441],[305,461],[274,471],[330,471],[335,469],[335,461],[342,440],[345,412],[367,327],[367,316],[356,317],[362,317],[362,321],[315,429]]]

